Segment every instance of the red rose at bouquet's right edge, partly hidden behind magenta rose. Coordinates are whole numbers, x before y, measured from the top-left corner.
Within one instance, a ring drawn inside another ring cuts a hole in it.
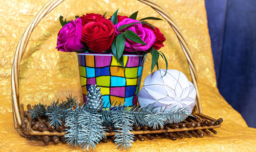
[[[154,32],[155,36],[156,36],[156,41],[155,43],[152,45],[152,47],[156,50],[160,49],[161,47],[163,47],[163,42],[165,41],[165,37],[164,35],[160,32],[160,30],[156,27],[151,27],[150,25],[148,24],[142,24],[142,27],[143,28],[147,28],[147,29],[150,29]]]

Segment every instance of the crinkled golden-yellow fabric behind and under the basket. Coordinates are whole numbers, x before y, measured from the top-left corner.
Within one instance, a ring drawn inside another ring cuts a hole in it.
[[[0,1],[0,151],[66,151],[81,150],[66,144],[45,145],[42,140],[20,137],[15,131],[11,108],[11,65],[18,39],[28,23],[47,0]],[[241,115],[220,95],[216,87],[214,63],[207,28],[204,0],[158,0],[178,22],[191,48],[198,70],[199,92],[203,112],[224,119],[217,135],[203,138],[185,138],[172,141],[155,138],[153,141],[136,141],[131,151],[216,151],[256,150],[256,129],[248,128]],[[56,98],[72,93],[81,99],[77,57],[75,53],[57,52],[57,33],[61,28],[60,14],[68,19],[90,12],[110,16],[119,8],[122,15],[139,11],[139,18],[160,17],[150,7],[130,0],[65,1],[49,13],[33,32],[20,68],[20,102],[48,104]],[[189,77],[185,56],[174,32],[165,21],[151,21],[166,37],[161,50],[167,56],[169,69],[182,71]],[[150,61],[145,64],[143,78],[150,73]],[[160,62],[164,68],[164,62]],[[190,78],[189,78],[190,79]],[[143,84],[143,82],[142,82]],[[115,144],[100,143],[94,151],[116,151]]]

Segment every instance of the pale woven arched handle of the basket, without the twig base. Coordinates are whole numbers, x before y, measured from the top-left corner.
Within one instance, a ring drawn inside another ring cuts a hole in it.
[[[22,37],[19,39],[19,42],[17,44],[17,48],[15,51],[13,64],[12,64],[12,73],[11,73],[11,86],[12,86],[12,110],[13,110],[13,121],[15,129],[20,133],[20,126],[22,124],[20,113],[19,113],[19,69],[20,69],[20,61],[22,60],[22,57],[25,53],[27,44],[29,42],[31,33],[39,23],[39,21],[45,17],[49,12],[51,12],[55,7],[57,7],[60,3],[62,3],[65,0],[50,0],[44,7],[40,9],[40,11],[34,16],[34,18],[29,23],[29,26],[27,27],[26,31],[23,33]],[[172,16],[169,15],[167,10],[165,10],[162,6],[157,4],[156,2],[152,0],[138,0],[141,3],[144,3],[150,7],[152,7],[156,12],[158,12],[170,25],[170,27],[174,30],[175,34],[177,35],[177,38],[179,39],[180,45],[182,47],[182,50],[186,56],[188,67],[191,75],[191,79],[193,84],[195,85],[195,89],[197,92],[197,98],[196,98],[196,107],[195,111],[197,113],[202,113],[202,106],[201,106],[201,100],[198,92],[198,85],[197,85],[197,73],[196,73],[196,67],[194,63],[194,59],[190,53],[188,43],[186,39],[184,38],[184,35],[182,34],[181,30],[178,27],[178,24],[173,19]]]

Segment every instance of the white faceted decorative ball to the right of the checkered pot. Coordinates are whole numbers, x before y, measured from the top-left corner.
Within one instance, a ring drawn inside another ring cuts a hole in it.
[[[157,70],[146,77],[139,92],[139,104],[144,107],[189,108],[191,114],[196,105],[196,90],[181,71],[168,69]],[[165,75],[164,75],[165,74]],[[164,76],[163,76],[164,75]]]

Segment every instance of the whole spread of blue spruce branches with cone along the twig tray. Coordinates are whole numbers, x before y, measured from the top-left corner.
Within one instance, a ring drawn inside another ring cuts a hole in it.
[[[87,103],[78,106],[76,97],[69,95],[60,104],[59,100],[51,103],[47,110],[43,104],[33,106],[33,109],[29,111],[30,115],[33,118],[47,115],[50,124],[56,127],[65,121],[67,143],[87,150],[95,148],[99,141],[106,137],[106,126],[116,129],[115,143],[117,147],[128,149],[133,143],[133,134],[131,133],[133,124],[153,126],[154,129],[158,129],[165,124],[179,123],[183,121],[184,116],[188,115],[189,109],[187,108],[173,107],[166,110],[167,107],[158,108],[154,104],[146,107],[134,106],[129,109],[124,106],[125,103],[118,105],[117,102],[114,102],[109,108],[102,109],[100,88],[97,86],[91,88],[89,105]],[[74,107],[76,108],[74,109]]]

